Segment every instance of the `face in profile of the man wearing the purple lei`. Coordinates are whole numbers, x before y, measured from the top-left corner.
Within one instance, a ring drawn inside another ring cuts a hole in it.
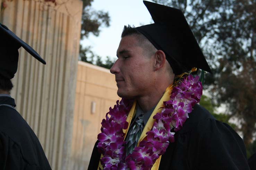
[[[117,61],[110,72],[116,76],[117,94],[124,98],[137,98],[152,90],[154,83],[154,57],[139,46],[136,36],[125,36],[117,49]]]

